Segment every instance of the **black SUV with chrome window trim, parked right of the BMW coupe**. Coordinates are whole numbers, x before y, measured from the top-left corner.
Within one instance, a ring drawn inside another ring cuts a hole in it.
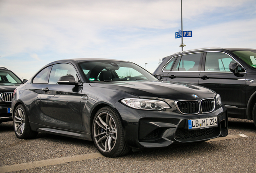
[[[159,79],[200,84],[221,95],[229,117],[256,125],[256,49],[202,48],[163,58]]]

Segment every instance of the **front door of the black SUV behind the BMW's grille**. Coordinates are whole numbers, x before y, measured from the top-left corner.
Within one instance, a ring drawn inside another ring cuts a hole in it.
[[[229,70],[231,62],[238,63],[224,52],[205,52],[199,84],[212,89],[219,95],[232,117],[245,115],[246,71],[240,65],[239,75]],[[239,63],[238,63],[239,64]]]

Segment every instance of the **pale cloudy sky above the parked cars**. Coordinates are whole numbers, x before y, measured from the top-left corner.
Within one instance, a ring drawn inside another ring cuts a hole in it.
[[[255,0],[182,0],[184,50],[256,48]],[[151,73],[181,51],[181,0],[0,0],[0,66],[29,79],[70,58],[134,62]],[[147,65],[145,64],[147,63]]]

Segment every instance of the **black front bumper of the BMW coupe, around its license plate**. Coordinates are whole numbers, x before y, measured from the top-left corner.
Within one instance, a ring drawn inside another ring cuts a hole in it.
[[[145,111],[116,103],[124,126],[125,139],[132,148],[167,147],[172,143],[206,141],[225,137],[227,109],[221,106],[212,113],[182,115],[174,109]],[[216,117],[218,127],[188,130],[188,119]]]

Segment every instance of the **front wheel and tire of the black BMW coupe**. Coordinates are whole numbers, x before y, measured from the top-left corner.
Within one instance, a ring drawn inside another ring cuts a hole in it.
[[[130,151],[124,140],[120,118],[111,107],[99,109],[93,119],[92,128],[93,142],[105,157],[118,157]]]

